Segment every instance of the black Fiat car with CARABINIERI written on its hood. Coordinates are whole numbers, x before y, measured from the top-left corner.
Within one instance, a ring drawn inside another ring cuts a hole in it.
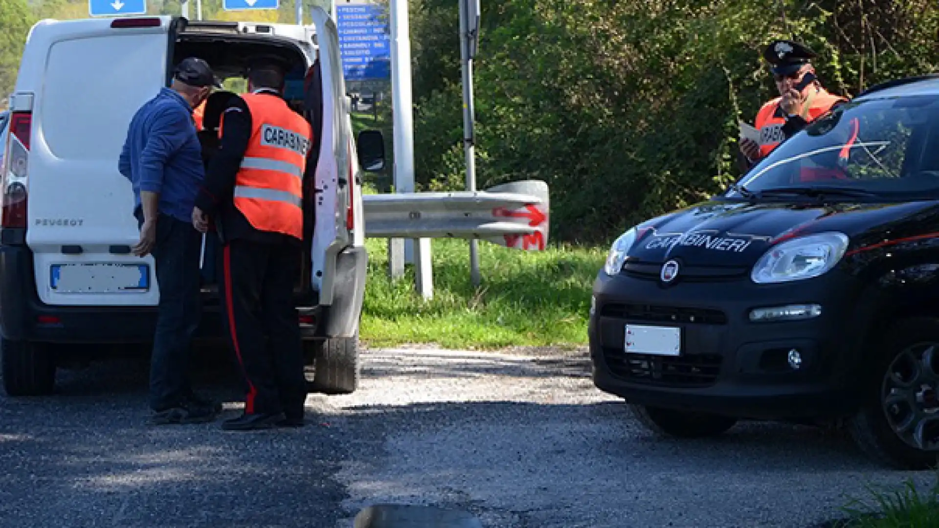
[[[939,75],[870,88],[724,193],[628,229],[593,286],[593,382],[679,437],[834,423],[939,453]]]

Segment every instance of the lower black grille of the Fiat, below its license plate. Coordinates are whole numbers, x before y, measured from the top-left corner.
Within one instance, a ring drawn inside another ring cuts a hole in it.
[[[690,354],[679,357],[627,354],[623,350],[604,349],[609,371],[634,383],[670,387],[708,387],[720,374],[721,356]]]

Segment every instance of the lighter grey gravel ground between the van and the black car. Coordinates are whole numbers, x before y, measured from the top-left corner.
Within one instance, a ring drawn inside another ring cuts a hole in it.
[[[368,365],[365,390],[318,400],[356,431],[337,474],[350,512],[390,502],[468,509],[486,526],[806,527],[869,498],[867,482],[929,476],[885,471],[813,427],[658,438],[593,387],[583,350],[372,350]]]

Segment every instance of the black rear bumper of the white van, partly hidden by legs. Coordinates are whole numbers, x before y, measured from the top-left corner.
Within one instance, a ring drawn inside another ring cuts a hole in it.
[[[204,296],[196,339],[226,342],[217,296]],[[156,306],[54,306],[42,303],[26,246],[0,245],[0,334],[14,341],[46,343],[145,344],[153,340]],[[303,328],[304,338],[314,328]]]

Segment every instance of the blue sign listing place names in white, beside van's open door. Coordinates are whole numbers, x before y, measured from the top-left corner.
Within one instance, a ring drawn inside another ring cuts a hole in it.
[[[385,8],[373,4],[336,6],[339,49],[346,81],[377,81],[391,77],[391,37],[384,14]]]

